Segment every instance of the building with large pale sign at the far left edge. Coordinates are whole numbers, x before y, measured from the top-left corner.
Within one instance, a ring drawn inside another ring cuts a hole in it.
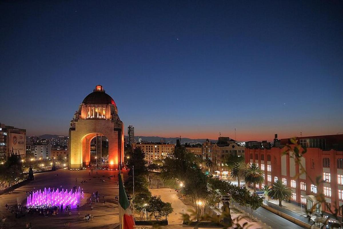
[[[26,129],[0,123],[0,160],[7,160],[10,154],[26,155]]]

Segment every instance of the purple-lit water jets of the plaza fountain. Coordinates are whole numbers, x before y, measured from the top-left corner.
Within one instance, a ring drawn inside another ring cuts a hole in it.
[[[37,206],[60,206],[60,205],[70,205],[71,208],[75,208],[76,204],[80,202],[80,197],[83,197],[83,191],[79,187],[77,191],[73,192],[68,189],[64,191],[59,191],[58,188],[55,191],[52,191],[50,188],[44,188],[44,191],[41,190],[33,192],[27,197],[26,206],[37,207]]]

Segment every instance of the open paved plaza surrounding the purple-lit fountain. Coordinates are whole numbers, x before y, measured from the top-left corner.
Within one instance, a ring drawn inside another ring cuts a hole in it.
[[[45,172],[35,174],[35,180],[17,188],[13,194],[0,195],[0,217],[5,216],[7,219],[2,228],[25,228],[26,222],[31,222],[34,229],[54,229],[64,228],[64,223],[69,222],[70,228],[94,228],[94,229],[113,229],[119,225],[118,219],[118,204],[115,201],[115,196],[118,195],[118,171],[93,171],[93,174],[88,175],[90,171],[68,171],[57,170],[53,172]],[[58,174],[58,176],[56,176]],[[115,179],[108,180],[108,176],[115,175]],[[75,181],[75,178],[78,181]],[[101,182],[100,179],[105,180]],[[87,180],[87,183],[81,184],[82,180]],[[24,217],[16,219],[14,214],[10,214],[5,209],[5,204],[15,205],[17,203],[26,203],[26,191],[44,189],[44,187],[72,188],[74,185],[81,186],[84,193],[98,191],[100,193],[100,203],[93,202],[94,210],[91,211],[89,204],[80,206],[80,218],[78,218],[78,210],[72,209],[72,215],[62,213],[57,216],[44,217],[38,214],[26,214]],[[102,203],[102,195],[105,196],[106,203]],[[94,215],[94,220],[86,222],[83,217],[86,213]]]

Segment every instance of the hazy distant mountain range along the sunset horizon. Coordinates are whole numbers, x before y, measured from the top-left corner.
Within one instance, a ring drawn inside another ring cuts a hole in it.
[[[55,134],[44,134],[40,135],[40,139],[52,139],[52,138],[57,138],[58,136],[61,135],[55,135]],[[127,136],[125,136],[127,137]],[[176,143],[176,139],[179,139],[178,137],[175,138],[165,138],[165,137],[159,137],[159,136],[135,136],[134,139],[138,142],[138,137],[142,138],[142,141],[147,141],[147,142],[160,142],[163,140],[164,142],[172,142]],[[204,142],[206,141],[205,138],[197,138],[197,139],[192,139],[192,138],[181,138],[181,143],[182,142]],[[209,139],[209,141],[217,142],[217,140],[214,139]]]

